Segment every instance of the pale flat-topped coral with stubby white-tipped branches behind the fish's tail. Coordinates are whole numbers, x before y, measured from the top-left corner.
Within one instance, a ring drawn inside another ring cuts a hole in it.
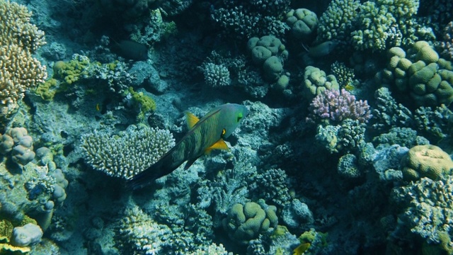
[[[86,162],[109,176],[129,179],[154,164],[175,145],[168,130],[131,125],[116,136],[93,132],[81,139]]]

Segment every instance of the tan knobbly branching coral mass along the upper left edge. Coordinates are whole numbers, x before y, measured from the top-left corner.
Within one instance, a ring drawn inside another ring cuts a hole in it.
[[[0,1],[0,116],[8,118],[18,108],[27,89],[44,82],[45,66],[33,53],[45,44],[44,32],[30,23],[30,11],[10,1]]]

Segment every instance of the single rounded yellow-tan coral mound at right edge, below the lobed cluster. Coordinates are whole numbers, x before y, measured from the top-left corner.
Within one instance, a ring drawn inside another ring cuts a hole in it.
[[[416,181],[423,177],[432,180],[440,179],[443,174],[451,174],[453,161],[447,152],[435,145],[418,145],[412,147],[401,160],[403,179]]]

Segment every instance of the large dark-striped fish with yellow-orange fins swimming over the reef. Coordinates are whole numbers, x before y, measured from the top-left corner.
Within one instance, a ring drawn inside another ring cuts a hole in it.
[[[199,157],[209,154],[212,149],[229,149],[224,139],[238,128],[247,113],[246,106],[236,103],[217,106],[201,119],[186,112],[188,132],[156,163],[128,179],[126,187],[130,190],[144,188],[154,180],[170,174],[184,162],[184,169],[188,169]]]

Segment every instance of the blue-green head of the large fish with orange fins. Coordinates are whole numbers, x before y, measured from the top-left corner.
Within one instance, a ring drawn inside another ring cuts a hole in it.
[[[246,106],[241,106],[236,103],[227,103],[222,106],[220,111],[220,121],[222,123],[222,137],[229,137],[234,130],[246,118],[248,110]]]

